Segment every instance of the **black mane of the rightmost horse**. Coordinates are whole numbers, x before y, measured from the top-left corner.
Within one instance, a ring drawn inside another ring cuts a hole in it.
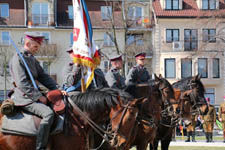
[[[173,88],[178,88],[181,91],[186,91],[186,90],[190,90],[190,82],[192,81],[193,77],[186,77],[183,78],[175,83],[172,84]],[[195,83],[198,85],[198,88],[201,89],[201,91],[205,92],[205,88],[204,85],[202,84],[202,82],[200,80],[194,80]]]

